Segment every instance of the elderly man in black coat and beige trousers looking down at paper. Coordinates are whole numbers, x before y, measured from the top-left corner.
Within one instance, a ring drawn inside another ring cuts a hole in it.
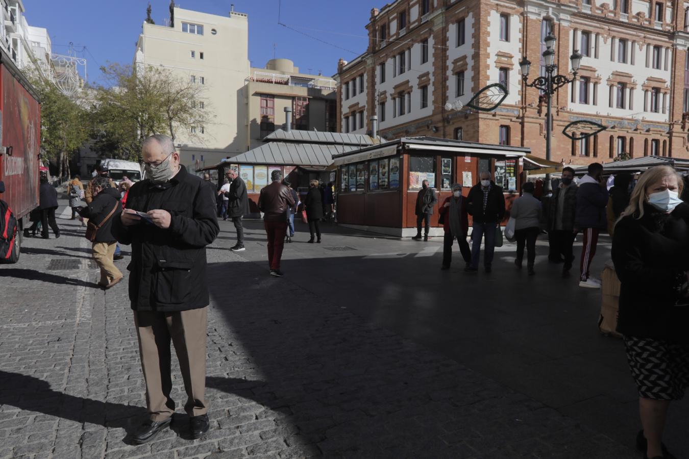
[[[134,310],[149,418],[133,434],[145,443],[167,427],[175,410],[170,397],[170,341],[187,392],[185,411],[192,438],[209,429],[205,392],[205,246],[220,228],[213,193],[179,163],[168,136],[150,136],[141,155],[146,179],[129,191],[112,232],[132,244],[129,295]]]

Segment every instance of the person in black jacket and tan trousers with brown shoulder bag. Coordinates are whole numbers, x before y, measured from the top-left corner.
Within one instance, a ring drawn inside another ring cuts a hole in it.
[[[117,245],[112,235],[112,222],[120,217],[122,204],[119,191],[110,186],[107,177],[96,177],[92,184],[92,200],[88,206],[79,210],[79,215],[99,227],[96,238],[92,241],[93,259],[101,268],[101,281],[98,285],[107,290],[123,278],[122,272],[112,261]]]

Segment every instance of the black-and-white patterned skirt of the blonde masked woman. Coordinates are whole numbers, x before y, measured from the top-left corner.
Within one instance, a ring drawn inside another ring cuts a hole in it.
[[[639,396],[680,400],[689,387],[689,346],[660,339],[624,337]]]

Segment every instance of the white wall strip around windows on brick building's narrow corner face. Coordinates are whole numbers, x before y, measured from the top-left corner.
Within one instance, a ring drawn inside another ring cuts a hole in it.
[[[522,49],[519,43],[520,41],[520,19],[517,15],[510,15],[509,22],[509,39],[510,41],[500,41],[500,12],[491,11],[489,16],[489,30],[491,31],[491,39],[488,46],[488,84],[500,83],[499,70],[497,65],[495,65],[495,59],[497,58],[497,52],[508,52],[512,54],[513,57],[513,68],[509,72],[507,88],[509,94],[505,98],[504,103],[517,105],[520,103],[520,67],[519,61],[522,56]]]

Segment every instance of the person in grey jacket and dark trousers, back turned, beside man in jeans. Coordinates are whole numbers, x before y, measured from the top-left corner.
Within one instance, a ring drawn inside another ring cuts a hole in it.
[[[533,182],[526,182],[522,186],[524,193],[515,199],[510,211],[510,217],[515,219],[515,239],[517,239],[517,259],[515,265],[522,269],[524,246],[526,245],[526,268],[528,275],[535,275],[533,264],[536,259],[536,239],[540,233],[539,224],[543,215],[541,202],[533,197],[535,186]]]

